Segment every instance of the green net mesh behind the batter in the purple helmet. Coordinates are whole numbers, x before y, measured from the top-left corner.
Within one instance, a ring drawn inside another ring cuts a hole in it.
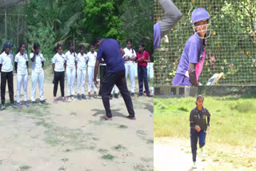
[[[171,85],[186,41],[193,34],[190,24],[195,8],[204,7],[210,14],[212,35],[207,38],[206,58],[199,82],[224,73],[219,85],[256,84],[256,1],[252,0],[182,0],[173,1],[182,12],[180,22],[162,38],[154,50],[154,84]],[[162,7],[154,0],[154,23],[165,18]]]

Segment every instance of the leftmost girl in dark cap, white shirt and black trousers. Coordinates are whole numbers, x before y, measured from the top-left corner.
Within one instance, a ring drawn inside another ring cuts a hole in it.
[[[10,97],[10,105],[16,108],[14,105],[14,74],[13,63],[14,56],[10,54],[10,49],[13,45],[6,42],[0,53],[0,71],[1,71],[1,110],[6,109],[6,81],[8,83],[8,91]]]

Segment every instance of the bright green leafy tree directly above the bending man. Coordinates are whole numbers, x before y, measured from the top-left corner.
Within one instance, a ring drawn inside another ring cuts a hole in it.
[[[123,0],[84,0],[83,19],[91,38],[114,38],[121,41],[123,38],[121,10]]]

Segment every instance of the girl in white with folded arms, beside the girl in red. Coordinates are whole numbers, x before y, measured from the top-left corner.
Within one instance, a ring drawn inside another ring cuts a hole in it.
[[[126,41],[126,48],[124,49],[125,53],[123,58],[125,60],[125,67],[126,67],[126,79],[129,74],[130,76],[130,96],[134,96],[134,89],[135,89],[135,60],[136,60],[136,52],[132,46],[131,39],[127,39]]]

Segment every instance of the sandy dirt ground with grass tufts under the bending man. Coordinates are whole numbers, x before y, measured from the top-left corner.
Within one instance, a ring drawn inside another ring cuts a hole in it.
[[[46,82],[47,105],[0,112],[1,171],[153,170],[153,98],[133,97],[135,121],[114,98],[113,121],[102,121],[101,99],[53,104],[52,90]]]

